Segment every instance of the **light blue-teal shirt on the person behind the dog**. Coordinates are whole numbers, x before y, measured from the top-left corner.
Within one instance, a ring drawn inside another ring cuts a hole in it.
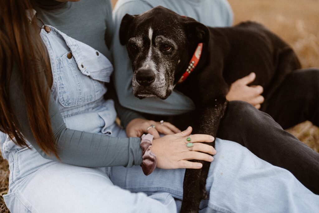
[[[116,3],[113,11],[115,31],[111,49],[114,58],[115,89],[120,104],[149,114],[182,114],[194,110],[195,105],[191,99],[178,91],[173,91],[166,100],[153,97],[140,100],[133,95],[131,62],[126,47],[119,41],[121,20],[126,13],[137,15],[158,5],[211,27],[231,26],[233,12],[226,0],[119,0]]]

